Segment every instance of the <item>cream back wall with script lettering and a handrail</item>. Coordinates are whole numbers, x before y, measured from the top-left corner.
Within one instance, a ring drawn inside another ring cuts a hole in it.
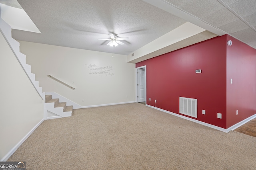
[[[135,101],[135,64],[127,63],[125,55],[112,57],[111,53],[25,41],[20,41],[20,51],[26,55],[43,92],[56,92],[82,107]],[[88,64],[111,69],[96,71]],[[90,74],[92,71],[113,75]],[[76,89],[52,80],[49,74]]]

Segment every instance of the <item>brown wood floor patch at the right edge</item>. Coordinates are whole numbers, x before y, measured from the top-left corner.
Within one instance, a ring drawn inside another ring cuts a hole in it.
[[[236,128],[234,131],[256,137],[256,118]]]

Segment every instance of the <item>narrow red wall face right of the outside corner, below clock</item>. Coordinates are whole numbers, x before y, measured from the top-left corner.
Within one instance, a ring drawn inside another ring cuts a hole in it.
[[[227,128],[256,114],[256,49],[229,35],[228,40],[232,45],[227,46]]]

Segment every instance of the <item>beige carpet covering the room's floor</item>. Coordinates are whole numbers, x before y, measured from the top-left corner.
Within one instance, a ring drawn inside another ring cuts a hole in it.
[[[255,170],[256,138],[132,103],[46,120],[8,161],[27,170]]]

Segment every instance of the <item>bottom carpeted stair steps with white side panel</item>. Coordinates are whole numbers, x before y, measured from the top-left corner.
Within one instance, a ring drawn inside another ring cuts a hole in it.
[[[66,102],[60,102],[60,99],[52,99],[52,95],[45,95],[45,108],[47,110],[47,119],[72,116],[73,106],[66,106]]]

